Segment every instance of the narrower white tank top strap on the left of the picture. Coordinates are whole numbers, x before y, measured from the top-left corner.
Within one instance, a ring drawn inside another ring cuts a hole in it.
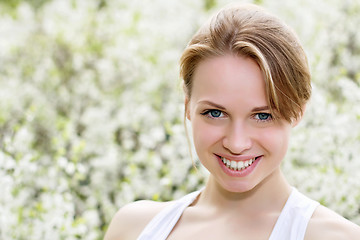
[[[185,195],[159,212],[148,223],[137,240],[165,240],[185,209],[195,201],[200,192],[201,190]]]

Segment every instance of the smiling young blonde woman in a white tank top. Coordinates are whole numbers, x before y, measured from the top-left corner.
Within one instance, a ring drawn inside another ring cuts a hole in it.
[[[105,239],[360,239],[360,227],[281,172],[311,94],[305,53],[286,25],[253,5],[226,7],[193,36],[181,76],[208,182],[177,201],[126,205]]]

